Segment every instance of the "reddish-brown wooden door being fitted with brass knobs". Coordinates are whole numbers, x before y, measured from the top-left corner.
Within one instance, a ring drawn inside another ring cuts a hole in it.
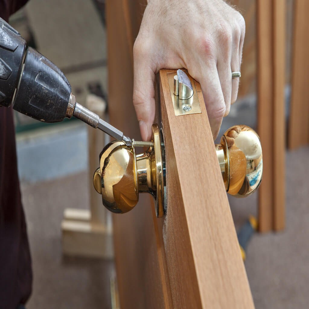
[[[126,21],[140,16],[128,3],[106,3],[109,112],[112,125],[138,139],[132,106],[134,27]],[[167,214],[156,218],[152,197],[140,194],[132,211],[113,217],[121,309],[253,308],[199,84],[202,113],[175,116],[167,80],[171,72],[161,70],[156,87]]]

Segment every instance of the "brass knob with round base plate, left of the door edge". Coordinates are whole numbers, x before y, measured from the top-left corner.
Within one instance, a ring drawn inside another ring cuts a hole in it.
[[[126,213],[137,204],[139,193],[147,192],[156,200],[157,217],[163,216],[165,163],[158,125],[152,126],[152,141],[153,146],[139,155],[134,147],[119,141],[109,143],[102,150],[93,184],[108,210]]]

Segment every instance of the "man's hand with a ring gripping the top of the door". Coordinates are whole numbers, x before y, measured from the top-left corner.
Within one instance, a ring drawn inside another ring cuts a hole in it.
[[[155,74],[186,68],[203,91],[213,137],[237,98],[245,22],[223,0],[149,0],[134,44],[133,104],[143,140],[155,118]]]

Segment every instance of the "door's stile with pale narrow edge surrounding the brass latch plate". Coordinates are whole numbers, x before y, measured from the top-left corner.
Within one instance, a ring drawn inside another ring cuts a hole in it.
[[[168,198],[163,239],[174,307],[253,308],[202,93],[201,114],[175,116],[168,72],[160,71]]]

